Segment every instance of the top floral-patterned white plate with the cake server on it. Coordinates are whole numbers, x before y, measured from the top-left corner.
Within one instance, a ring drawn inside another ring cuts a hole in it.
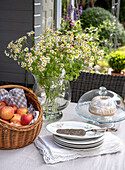
[[[91,138],[99,138],[104,135],[104,132],[87,132],[85,136],[76,136],[76,135],[67,135],[67,134],[60,134],[57,133],[57,129],[101,129],[96,125],[92,125],[89,123],[84,122],[77,122],[77,121],[64,121],[64,122],[54,122],[47,125],[47,130],[54,135],[61,136],[67,139],[75,139],[75,140],[82,140],[82,139],[91,139]]]

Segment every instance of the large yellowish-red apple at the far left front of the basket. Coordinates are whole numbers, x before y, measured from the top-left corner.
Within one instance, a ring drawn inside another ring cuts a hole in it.
[[[14,109],[11,106],[4,106],[1,109],[0,117],[5,120],[10,120],[14,115]]]

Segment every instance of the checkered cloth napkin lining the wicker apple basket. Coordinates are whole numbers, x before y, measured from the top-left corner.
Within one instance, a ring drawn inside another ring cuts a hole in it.
[[[5,89],[0,89],[0,101],[5,101],[7,105],[15,104],[17,107],[26,107],[27,108],[27,99],[23,89],[13,88],[10,91]],[[33,114],[34,119],[30,124],[34,123],[38,116],[39,112],[35,111],[32,104],[27,108],[31,114]]]

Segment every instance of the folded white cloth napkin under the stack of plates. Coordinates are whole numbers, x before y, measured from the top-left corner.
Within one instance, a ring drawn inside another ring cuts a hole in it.
[[[43,155],[45,163],[54,164],[62,161],[69,161],[79,157],[92,157],[102,154],[121,152],[123,144],[120,138],[110,132],[106,132],[103,144],[96,149],[91,150],[69,150],[64,149],[53,142],[53,136],[38,136],[34,141],[36,147]]]

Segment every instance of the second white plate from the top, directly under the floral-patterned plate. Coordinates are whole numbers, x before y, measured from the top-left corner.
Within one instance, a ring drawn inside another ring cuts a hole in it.
[[[53,135],[53,138],[56,141],[64,142],[64,143],[69,143],[69,144],[75,144],[75,145],[91,145],[93,143],[100,142],[104,139],[104,136],[101,136],[99,138],[92,138],[92,139],[85,139],[85,140],[73,140],[73,139],[66,139],[62,138],[60,136]]]

